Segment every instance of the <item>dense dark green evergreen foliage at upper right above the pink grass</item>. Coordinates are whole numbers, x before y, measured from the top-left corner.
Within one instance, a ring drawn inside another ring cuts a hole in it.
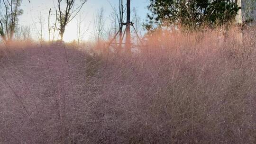
[[[235,0],[150,0],[148,9],[151,14],[146,28],[152,29],[166,25],[214,27],[234,19],[241,8]]]

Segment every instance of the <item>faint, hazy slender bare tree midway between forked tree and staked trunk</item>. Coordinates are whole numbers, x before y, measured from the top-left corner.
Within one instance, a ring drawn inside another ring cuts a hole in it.
[[[98,42],[100,42],[100,39],[103,36],[105,21],[106,19],[104,18],[104,9],[101,8],[98,11],[96,11],[96,14],[94,16],[95,39]]]

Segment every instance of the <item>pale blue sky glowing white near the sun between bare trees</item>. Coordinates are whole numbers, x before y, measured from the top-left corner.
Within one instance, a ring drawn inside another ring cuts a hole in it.
[[[31,3],[28,2],[28,0],[23,0],[22,2],[22,9],[24,10],[24,14],[20,17],[20,24],[31,26],[33,30],[33,36],[35,36],[35,27],[39,28],[38,25],[38,17],[41,13],[43,16],[43,19],[45,20],[45,27],[44,27],[44,37],[48,39],[47,34],[47,13],[49,9],[55,9],[54,8],[54,2],[56,5],[57,0],[30,0]],[[89,33],[85,36],[84,40],[89,40],[93,37],[93,15],[97,9],[100,9],[103,7],[105,9],[105,17],[107,19],[105,26],[110,27],[110,20],[108,19],[110,17],[110,13],[112,11],[112,8],[110,6],[110,3],[112,5],[119,5],[119,0],[88,0],[84,7],[82,8],[81,14],[82,17],[85,18],[85,22],[89,25]],[[126,0],[124,0],[124,3],[126,3]],[[148,5],[148,0],[131,0],[131,8],[136,8],[139,17],[142,21],[146,19],[146,13],[148,10],[146,9],[146,6]],[[33,23],[37,23],[35,26]],[[77,38],[77,26],[76,26],[76,19],[71,22],[65,32],[64,40],[65,41],[71,41],[73,39]]]

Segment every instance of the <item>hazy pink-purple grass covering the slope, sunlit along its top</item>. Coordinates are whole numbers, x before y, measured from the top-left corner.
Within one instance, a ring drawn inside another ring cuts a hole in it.
[[[255,37],[228,35],[156,35],[133,55],[10,46],[0,144],[255,144]]]

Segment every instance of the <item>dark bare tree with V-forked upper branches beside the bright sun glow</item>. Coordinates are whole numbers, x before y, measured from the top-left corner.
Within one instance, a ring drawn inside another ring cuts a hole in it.
[[[87,0],[80,0],[80,4],[76,7],[75,0],[64,0],[65,3],[65,9],[62,10],[62,2],[63,0],[58,0],[58,22],[60,25],[60,36],[61,40],[63,40],[65,28],[67,24],[73,20],[73,18],[79,13],[79,11],[82,9],[82,6],[85,4]]]

